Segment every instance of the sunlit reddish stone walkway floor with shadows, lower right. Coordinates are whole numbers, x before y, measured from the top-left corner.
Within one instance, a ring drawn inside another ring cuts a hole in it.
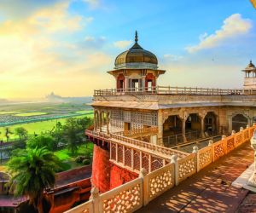
[[[240,206],[248,191],[231,186],[252,163],[253,149],[247,142],[137,212],[253,212]]]

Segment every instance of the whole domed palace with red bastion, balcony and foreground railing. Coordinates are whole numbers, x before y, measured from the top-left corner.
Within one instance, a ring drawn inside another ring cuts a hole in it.
[[[165,72],[136,32],[108,71],[115,88],[94,91],[94,126],[85,130],[94,143],[91,196],[67,212],[154,212],[159,196],[250,140],[256,127],[252,60],[242,70],[241,89],[160,86]]]

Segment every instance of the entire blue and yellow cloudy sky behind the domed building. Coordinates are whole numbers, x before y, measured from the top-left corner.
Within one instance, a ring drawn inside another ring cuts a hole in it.
[[[1,0],[0,99],[114,88],[107,72],[136,30],[166,70],[159,85],[241,88],[256,64],[249,0]]]

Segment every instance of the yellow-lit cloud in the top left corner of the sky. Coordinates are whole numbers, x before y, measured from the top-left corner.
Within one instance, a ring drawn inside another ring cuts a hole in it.
[[[30,37],[32,37],[42,32],[76,32],[93,20],[92,17],[68,14],[68,5],[67,2],[56,3],[50,8],[38,9],[24,19],[5,20],[0,26],[0,33],[2,35],[17,34],[19,36],[30,33]]]

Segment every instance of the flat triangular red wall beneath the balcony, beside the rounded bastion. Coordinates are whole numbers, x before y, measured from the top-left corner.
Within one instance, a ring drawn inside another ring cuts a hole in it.
[[[129,170],[121,169],[117,165],[112,164],[110,170],[110,189],[119,187],[125,182],[132,181],[137,178],[137,174]]]

